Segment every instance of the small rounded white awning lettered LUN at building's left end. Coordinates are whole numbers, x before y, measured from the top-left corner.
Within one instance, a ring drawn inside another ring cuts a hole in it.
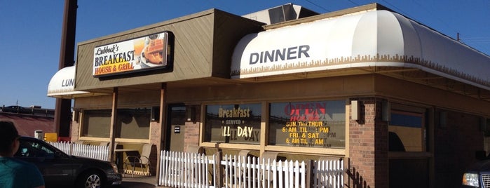
[[[76,96],[90,95],[86,91],[75,90],[76,67],[64,67],[51,78],[48,85],[48,97],[72,99]]]

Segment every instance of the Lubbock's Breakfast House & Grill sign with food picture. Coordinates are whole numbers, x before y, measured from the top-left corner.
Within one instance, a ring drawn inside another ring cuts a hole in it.
[[[161,32],[94,48],[93,76],[172,69],[172,32]]]

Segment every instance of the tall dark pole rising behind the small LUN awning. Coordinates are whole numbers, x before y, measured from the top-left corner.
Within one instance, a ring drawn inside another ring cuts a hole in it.
[[[64,0],[63,25],[58,69],[74,65],[77,0]],[[69,137],[72,99],[56,98],[55,125],[58,137]]]

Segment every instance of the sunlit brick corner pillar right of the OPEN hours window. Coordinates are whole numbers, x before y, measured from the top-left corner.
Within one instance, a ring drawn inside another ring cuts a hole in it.
[[[349,187],[388,187],[388,126],[381,100],[357,99],[360,119],[349,122]]]

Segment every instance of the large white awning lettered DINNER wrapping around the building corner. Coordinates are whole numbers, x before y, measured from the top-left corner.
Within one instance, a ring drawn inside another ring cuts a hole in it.
[[[415,68],[490,90],[490,58],[390,11],[367,11],[248,34],[231,78],[356,67]]]

